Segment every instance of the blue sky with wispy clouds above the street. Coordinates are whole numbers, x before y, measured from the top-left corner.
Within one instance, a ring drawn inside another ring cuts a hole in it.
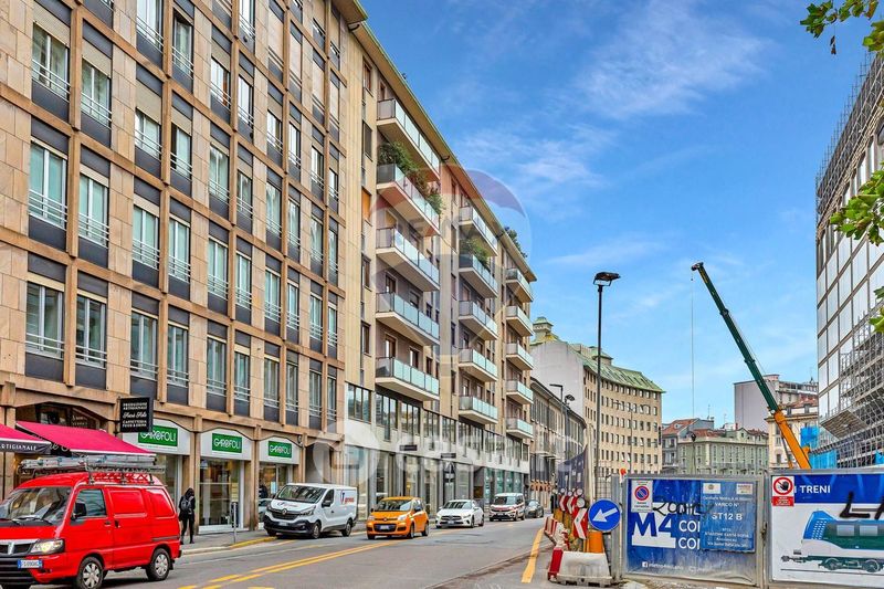
[[[592,277],[620,273],[604,350],[666,391],[664,420],[730,422],[751,377],[692,281],[702,260],[761,367],[817,379],[815,176],[866,22],[831,55],[807,0],[362,3],[461,164],[524,208],[498,213],[537,274],[534,318],[594,345]]]

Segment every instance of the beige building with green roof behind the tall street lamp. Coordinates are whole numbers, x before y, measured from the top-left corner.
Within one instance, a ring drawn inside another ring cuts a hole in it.
[[[598,349],[560,339],[546,317],[534,322],[534,378],[546,387],[560,385],[572,395],[572,409],[587,423],[594,440]],[[607,480],[612,473],[660,472],[661,403],[663,390],[638,370],[613,364],[601,353],[601,443],[599,467]],[[590,443],[590,446],[592,444]],[[594,464],[590,457],[590,464]],[[594,469],[590,469],[590,476]]]

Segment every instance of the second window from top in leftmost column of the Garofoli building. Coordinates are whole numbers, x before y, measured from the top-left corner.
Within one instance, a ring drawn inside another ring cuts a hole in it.
[[[66,160],[39,144],[31,144],[28,212],[50,224],[67,225]]]

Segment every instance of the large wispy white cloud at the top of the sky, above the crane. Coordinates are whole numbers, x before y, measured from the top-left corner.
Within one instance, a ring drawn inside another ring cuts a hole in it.
[[[683,113],[756,75],[768,42],[697,4],[653,0],[623,15],[576,81],[586,105],[618,119]]]

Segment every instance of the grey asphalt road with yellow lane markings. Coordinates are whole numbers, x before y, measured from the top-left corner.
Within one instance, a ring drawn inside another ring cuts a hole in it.
[[[484,527],[436,529],[414,539],[349,538],[333,533],[318,540],[276,539],[243,548],[185,556],[157,589],[270,589],[382,587],[526,587],[533,546],[549,544],[543,519],[487,522]],[[535,583],[545,578],[537,562]],[[105,587],[147,585],[144,571],[110,574]]]

